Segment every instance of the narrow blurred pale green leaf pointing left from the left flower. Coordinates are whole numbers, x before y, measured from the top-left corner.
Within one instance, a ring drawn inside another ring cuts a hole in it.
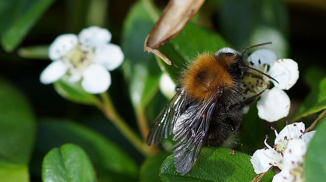
[[[49,59],[48,56],[49,46],[30,46],[22,47],[18,50],[18,55],[23,58],[29,59]]]

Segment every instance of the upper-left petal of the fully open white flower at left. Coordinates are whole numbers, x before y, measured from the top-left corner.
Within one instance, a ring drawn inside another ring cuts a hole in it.
[[[67,54],[78,43],[77,35],[62,34],[59,35],[49,47],[49,58],[56,60]]]

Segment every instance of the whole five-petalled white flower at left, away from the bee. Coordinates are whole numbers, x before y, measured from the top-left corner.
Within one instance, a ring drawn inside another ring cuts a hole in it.
[[[70,82],[81,80],[88,93],[105,92],[111,85],[108,70],[120,66],[124,59],[121,48],[110,41],[111,33],[97,26],[85,28],[78,35],[60,35],[49,47],[53,62],[42,71],[41,83],[50,84],[68,75]]]

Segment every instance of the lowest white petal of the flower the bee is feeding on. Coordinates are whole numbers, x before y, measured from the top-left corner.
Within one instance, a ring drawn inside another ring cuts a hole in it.
[[[259,118],[274,122],[289,114],[290,98],[283,90],[274,87],[261,94],[257,108]]]

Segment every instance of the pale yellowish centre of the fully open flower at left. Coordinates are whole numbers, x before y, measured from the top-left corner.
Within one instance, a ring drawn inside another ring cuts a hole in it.
[[[69,68],[71,76],[82,75],[82,72],[92,63],[94,51],[90,47],[77,44],[67,54],[62,57]]]

